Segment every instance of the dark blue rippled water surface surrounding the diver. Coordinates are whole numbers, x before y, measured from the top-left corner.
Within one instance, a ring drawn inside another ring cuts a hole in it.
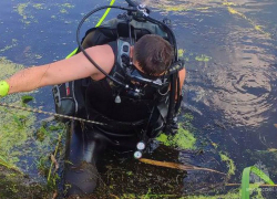
[[[255,164],[277,182],[277,128],[274,127],[277,123],[277,2],[145,2],[153,9],[153,17],[172,20],[187,69],[179,123],[196,138],[192,150],[162,146],[146,156],[191,163],[228,175],[225,178],[206,171],[186,175],[137,163],[131,156],[126,159],[116,155],[110,163],[115,156],[112,154],[106,157],[107,168],[102,171],[104,190],[125,198],[152,193],[161,198],[224,193],[238,188],[224,186],[224,180],[240,184],[243,169]],[[1,1],[0,56],[25,67],[63,59],[76,46],[75,29],[82,15],[107,3]],[[116,3],[123,4],[123,0]],[[112,11],[109,18],[116,13]],[[95,25],[100,15],[91,19],[86,28]],[[35,103],[30,105],[53,112],[51,87],[33,95]],[[42,118],[38,116],[37,121]],[[33,172],[30,175],[38,176]],[[268,198],[276,192],[277,189],[264,189],[263,195]],[[100,193],[103,195],[101,190]]]

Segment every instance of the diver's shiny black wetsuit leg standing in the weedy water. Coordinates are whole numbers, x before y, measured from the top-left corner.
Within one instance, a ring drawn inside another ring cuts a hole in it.
[[[71,123],[68,130],[64,192],[72,195],[90,195],[98,184],[98,157],[105,149],[105,142],[100,139],[98,130],[83,130],[79,123]]]

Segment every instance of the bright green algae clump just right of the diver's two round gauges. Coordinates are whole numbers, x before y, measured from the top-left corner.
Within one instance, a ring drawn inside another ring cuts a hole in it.
[[[161,134],[156,140],[165,146],[178,147],[181,149],[195,149],[196,143],[194,135],[182,127],[179,127],[175,135],[167,136],[166,134]]]

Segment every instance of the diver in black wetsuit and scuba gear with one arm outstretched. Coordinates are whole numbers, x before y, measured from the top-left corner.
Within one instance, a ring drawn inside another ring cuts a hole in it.
[[[71,57],[0,82],[0,97],[54,85],[58,113],[100,123],[69,122],[65,196],[93,192],[98,159],[106,148],[137,150],[140,158],[151,138],[172,133],[185,80],[175,36],[145,7],[131,6],[127,13],[86,31]]]

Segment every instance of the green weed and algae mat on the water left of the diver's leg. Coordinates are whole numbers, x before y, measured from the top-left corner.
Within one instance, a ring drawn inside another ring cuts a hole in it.
[[[23,66],[0,57],[0,80],[20,69]],[[1,102],[17,106],[28,106],[31,101],[34,101],[33,96],[23,94],[1,98]],[[64,125],[53,119],[38,123],[33,113],[3,106],[0,106],[0,198],[21,198],[22,193],[27,198],[49,198],[59,180]],[[35,180],[34,177],[29,179],[29,172],[33,176],[34,170],[40,175]]]

